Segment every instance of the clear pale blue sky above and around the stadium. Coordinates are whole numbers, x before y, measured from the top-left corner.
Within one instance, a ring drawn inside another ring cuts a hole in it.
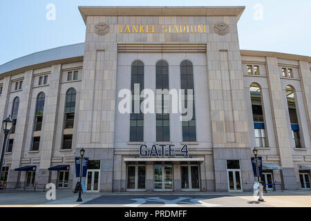
[[[48,3],[55,5],[54,21],[46,19]],[[254,10],[257,3],[262,14]],[[1,0],[0,64],[32,52],[84,42],[85,25],[77,6],[246,6],[238,21],[241,49],[311,56],[310,0]],[[254,19],[254,14],[262,19]]]

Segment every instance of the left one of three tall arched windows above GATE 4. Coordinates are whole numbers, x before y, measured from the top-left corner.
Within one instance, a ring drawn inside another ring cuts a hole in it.
[[[134,95],[135,84],[139,86],[139,93],[141,93],[144,89],[144,64],[142,61],[134,61],[131,66],[132,110],[130,116],[130,141],[142,142],[144,141],[144,114],[140,110],[140,104],[143,97]]]

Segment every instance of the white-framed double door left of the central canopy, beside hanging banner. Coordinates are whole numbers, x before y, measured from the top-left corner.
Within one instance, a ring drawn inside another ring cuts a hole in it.
[[[100,160],[89,160],[86,173],[86,192],[100,191]]]

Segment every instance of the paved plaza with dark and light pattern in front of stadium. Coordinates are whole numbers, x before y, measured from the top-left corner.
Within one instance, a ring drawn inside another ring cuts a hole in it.
[[[46,192],[0,193],[0,207],[311,207],[311,191],[275,191],[258,202],[252,193],[84,193],[57,190],[56,200]]]

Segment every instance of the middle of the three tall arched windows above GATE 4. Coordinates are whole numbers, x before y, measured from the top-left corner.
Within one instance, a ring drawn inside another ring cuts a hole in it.
[[[156,140],[160,142],[169,141],[169,65],[167,61],[158,61],[156,64],[156,89]],[[160,104],[158,104],[158,101],[160,101]]]

